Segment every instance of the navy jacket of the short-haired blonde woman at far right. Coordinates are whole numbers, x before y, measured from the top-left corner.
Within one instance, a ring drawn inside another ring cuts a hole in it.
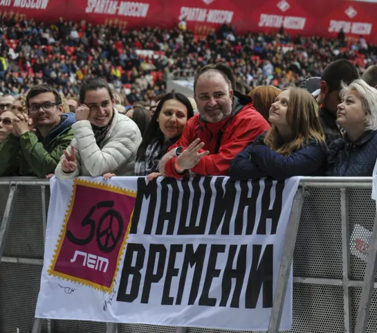
[[[371,177],[377,159],[377,131],[366,131],[351,143],[347,133],[329,145],[328,176]]]

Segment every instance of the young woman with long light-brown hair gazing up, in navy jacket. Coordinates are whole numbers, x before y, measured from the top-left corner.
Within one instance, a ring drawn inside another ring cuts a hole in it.
[[[239,153],[230,165],[234,180],[324,174],[327,146],[311,94],[291,87],[279,93],[270,107],[271,128]]]

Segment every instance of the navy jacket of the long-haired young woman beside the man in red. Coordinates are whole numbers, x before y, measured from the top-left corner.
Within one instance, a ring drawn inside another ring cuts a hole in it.
[[[230,178],[236,181],[271,177],[283,180],[294,176],[324,174],[327,147],[309,140],[300,150],[289,156],[278,154],[264,144],[266,134],[240,152],[230,164]]]

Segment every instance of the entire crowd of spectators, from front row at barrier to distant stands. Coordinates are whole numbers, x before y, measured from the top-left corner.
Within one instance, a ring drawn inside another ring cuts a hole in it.
[[[2,20],[2,176],[244,180],[374,169],[377,66],[362,37]],[[193,97],[165,91],[172,73],[194,75]]]

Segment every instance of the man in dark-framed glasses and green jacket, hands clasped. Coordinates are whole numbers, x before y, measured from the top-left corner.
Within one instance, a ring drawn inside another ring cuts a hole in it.
[[[8,163],[1,176],[45,177],[54,172],[60,156],[73,139],[74,114],[63,114],[62,98],[53,87],[39,84],[26,96],[28,114],[17,114],[13,133],[1,145],[12,156],[1,156]],[[17,152],[17,153],[15,153]]]

